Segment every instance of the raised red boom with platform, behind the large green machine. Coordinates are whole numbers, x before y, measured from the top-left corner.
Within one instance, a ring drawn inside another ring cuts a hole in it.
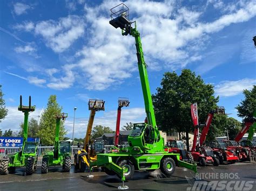
[[[129,104],[130,104],[129,98],[126,98],[126,97],[119,97],[118,98],[116,135],[114,136],[114,145],[116,147],[118,147],[118,145],[119,145],[121,111],[122,111],[123,107],[129,107]]]

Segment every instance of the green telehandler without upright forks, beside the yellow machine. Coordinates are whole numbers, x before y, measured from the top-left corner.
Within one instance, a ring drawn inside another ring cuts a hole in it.
[[[64,172],[71,168],[71,143],[59,141],[60,119],[63,121],[68,114],[56,115],[55,143],[53,151],[43,155],[41,173],[48,173],[49,166],[62,166]]]

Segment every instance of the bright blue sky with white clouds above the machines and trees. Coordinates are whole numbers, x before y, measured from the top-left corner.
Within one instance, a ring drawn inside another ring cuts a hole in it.
[[[65,128],[85,135],[89,98],[105,100],[95,124],[115,128],[118,97],[131,104],[121,125],[145,118],[134,39],[123,37],[109,24],[109,9],[120,1],[0,1],[0,83],[8,116],[0,129],[17,131],[23,115],[19,95],[32,96],[38,115],[49,95],[56,94],[69,113]],[[189,68],[215,87],[232,117],[244,98],[243,89],[256,84],[256,1],[141,1],[124,2],[137,21],[151,92],[163,73]],[[26,101],[26,103],[28,103]]]

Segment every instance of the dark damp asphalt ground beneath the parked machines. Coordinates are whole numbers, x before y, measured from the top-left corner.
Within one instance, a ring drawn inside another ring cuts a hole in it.
[[[41,168],[35,174],[26,176],[24,168],[17,169],[15,174],[0,176],[0,190],[118,190],[121,185],[117,176],[108,176],[104,172],[93,172],[93,178],[87,178],[89,173],[75,173],[72,167],[70,173],[63,173],[60,167],[51,167],[48,174],[41,174]],[[256,190],[256,163],[240,163],[233,165],[220,165],[218,167],[198,167],[201,176],[218,174],[219,177],[201,177],[209,182],[218,181],[254,181],[253,188]],[[206,173],[206,174],[204,174]],[[220,175],[226,173],[223,178]],[[229,173],[229,174],[228,174]],[[234,174],[236,178],[234,179]],[[187,176],[187,179],[185,178]],[[239,176],[239,177],[238,177]],[[125,182],[129,190],[186,190],[193,187],[194,173],[185,168],[177,167],[176,172],[165,178],[159,171],[151,173],[135,172],[133,179]],[[188,183],[189,182],[189,183]],[[192,185],[190,184],[192,183]],[[227,189],[227,188],[226,188]],[[202,189],[202,190],[205,190]],[[214,190],[214,189],[213,189]],[[225,190],[225,189],[224,189]],[[240,189],[241,190],[241,189]]]

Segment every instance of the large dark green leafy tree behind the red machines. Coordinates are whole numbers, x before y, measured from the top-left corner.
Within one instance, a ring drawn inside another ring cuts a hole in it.
[[[189,69],[183,69],[181,75],[166,72],[161,80],[161,87],[152,95],[157,124],[160,130],[167,132],[176,129],[186,132],[187,150],[189,150],[188,132],[193,131],[190,107],[198,104],[200,123],[210,110],[217,107],[219,97],[214,97],[212,84],[205,84],[203,79]]]

